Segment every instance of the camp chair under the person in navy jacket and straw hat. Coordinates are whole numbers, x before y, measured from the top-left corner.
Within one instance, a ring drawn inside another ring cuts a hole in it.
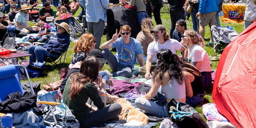
[[[50,57],[50,54],[56,54],[56,55],[58,55],[58,57]],[[53,68],[55,65],[58,65],[58,63],[60,65],[62,56],[64,55],[64,60],[63,60],[63,63],[62,63],[62,65],[63,65],[64,62],[65,62],[66,54],[67,54],[67,51],[62,53],[60,51],[51,50],[49,52],[48,56],[44,58],[45,64],[46,63],[51,63],[53,65],[51,68]]]

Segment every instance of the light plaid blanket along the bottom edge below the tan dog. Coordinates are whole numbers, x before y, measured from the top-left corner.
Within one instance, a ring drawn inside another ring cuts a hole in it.
[[[143,126],[127,126],[127,125],[123,125],[125,123],[125,120],[115,120],[115,121],[110,121],[110,122],[106,122],[106,123],[102,123],[100,124],[99,126],[92,126],[92,128],[96,128],[96,127],[122,127],[122,128],[133,128],[133,127],[136,127],[136,128],[150,128],[152,126],[156,126],[157,125],[157,122],[149,122],[148,124],[146,125],[143,125]]]

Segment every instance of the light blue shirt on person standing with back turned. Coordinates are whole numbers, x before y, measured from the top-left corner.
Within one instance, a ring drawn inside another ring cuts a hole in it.
[[[106,22],[107,0],[86,0],[86,21],[97,23],[99,20]]]

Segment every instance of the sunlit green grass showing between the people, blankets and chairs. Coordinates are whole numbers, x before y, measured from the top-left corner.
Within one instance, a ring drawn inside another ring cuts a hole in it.
[[[39,7],[40,8],[40,7]],[[53,10],[56,11],[56,8],[53,7]],[[76,12],[76,14],[74,15],[74,17],[77,17],[79,15],[79,13],[81,12],[81,8],[78,9],[78,11]],[[166,27],[166,31],[167,32],[170,32],[170,25],[171,25],[171,20],[170,20],[170,14],[169,13],[162,13],[161,14],[161,19],[162,19],[162,23],[163,25]],[[154,20],[154,17],[153,17],[153,23],[154,25],[156,25],[156,22]],[[29,23],[31,26],[34,25],[32,23]],[[223,23],[221,21],[221,18],[220,18],[220,25],[221,26],[232,26],[235,31],[239,34],[241,33],[243,30],[244,30],[244,25],[243,24],[233,24],[233,23]],[[192,21],[191,21],[191,18],[189,19],[189,22],[187,22],[187,28],[188,29],[192,29]],[[205,27],[205,43],[208,43],[210,40],[210,29],[209,27]],[[101,44],[106,42],[106,36],[104,35],[102,38],[101,38]],[[73,55],[74,55],[74,52],[72,50],[73,46],[74,46],[75,43],[71,42],[70,45],[69,45],[69,48],[68,48],[68,52],[67,52],[67,56],[66,56],[66,60],[65,60],[65,63],[64,65],[60,65],[60,66],[55,66],[53,69],[50,69],[51,65],[47,64],[47,75],[44,76],[44,77],[37,77],[37,78],[32,78],[32,82],[40,82],[41,85],[44,85],[46,83],[50,83],[50,82],[54,82],[54,81],[57,81],[60,79],[60,69],[61,68],[68,68],[68,65],[70,64],[70,60],[72,59]],[[214,52],[213,50],[213,46],[207,46],[204,48],[207,52],[207,54],[210,56],[210,55],[213,55],[213,54],[217,54]],[[180,53],[178,53],[180,54]],[[217,68],[217,65],[218,65],[218,61],[211,61],[212,63],[212,66],[211,66],[211,69],[212,70],[216,70]],[[109,70],[111,72],[111,69],[107,66],[107,65],[104,65],[104,67],[102,68],[102,70]],[[25,82],[25,81],[24,81]],[[207,92],[207,94],[205,95],[204,97],[204,103],[212,103],[212,93],[211,92]],[[202,104],[198,105],[195,107],[195,109],[200,113],[200,115],[205,119],[203,113],[202,113]],[[159,124],[158,124],[159,125]],[[158,127],[158,126],[157,126]]]

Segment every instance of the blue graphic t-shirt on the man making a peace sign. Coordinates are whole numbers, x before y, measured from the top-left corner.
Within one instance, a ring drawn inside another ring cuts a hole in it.
[[[112,48],[116,48],[117,59],[120,64],[131,65],[136,63],[137,55],[142,54],[142,45],[136,39],[130,37],[131,42],[124,44],[122,37],[119,37],[114,43],[111,44]]]

